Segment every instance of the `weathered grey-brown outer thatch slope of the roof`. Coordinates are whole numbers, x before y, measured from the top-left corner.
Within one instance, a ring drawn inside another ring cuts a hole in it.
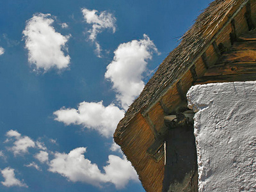
[[[227,19],[228,13],[234,7],[240,6],[247,1],[241,0],[216,0],[209,4],[209,7],[196,19],[195,24],[182,36],[182,41],[167,58],[159,65],[156,74],[148,81],[140,96],[134,100],[125,117],[119,122],[115,132],[122,132],[129,124],[129,121],[141,110],[150,107],[159,99],[163,92],[170,87],[180,76],[182,76],[191,63],[198,58],[206,44],[211,42],[216,31],[225,25],[223,20]]]

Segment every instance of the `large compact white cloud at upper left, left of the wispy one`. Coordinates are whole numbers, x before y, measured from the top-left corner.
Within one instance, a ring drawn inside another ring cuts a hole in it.
[[[26,22],[23,31],[28,49],[28,61],[35,64],[36,69],[56,67],[67,68],[70,56],[64,54],[67,51],[65,45],[69,36],[63,36],[52,27],[54,19],[51,14],[38,13]]]

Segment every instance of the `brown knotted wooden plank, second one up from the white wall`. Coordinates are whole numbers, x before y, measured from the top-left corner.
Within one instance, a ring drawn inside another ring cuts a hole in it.
[[[256,73],[256,63],[227,63],[225,65],[209,68],[204,76],[225,76],[229,74]]]

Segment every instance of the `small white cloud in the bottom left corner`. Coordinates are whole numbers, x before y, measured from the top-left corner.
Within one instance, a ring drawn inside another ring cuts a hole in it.
[[[28,188],[24,182],[21,182],[19,179],[15,178],[15,173],[13,168],[4,168],[4,170],[1,170],[1,173],[4,177],[4,181],[1,183],[6,186],[6,187],[12,187],[12,186],[20,186],[20,187],[25,187]]]

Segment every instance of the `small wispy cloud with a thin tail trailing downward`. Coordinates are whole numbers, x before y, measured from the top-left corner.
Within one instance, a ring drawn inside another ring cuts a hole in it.
[[[115,22],[116,18],[106,11],[98,13],[97,10],[88,10],[86,8],[82,9],[82,13],[84,16],[84,20],[88,24],[92,24],[92,29],[88,31],[90,33],[89,39],[92,42],[95,42],[95,52],[97,52],[97,56],[100,58],[100,52],[102,51],[100,44],[96,41],[97,35],[101,33],[104,29],[112,29],[113,33],[115,33]]]

